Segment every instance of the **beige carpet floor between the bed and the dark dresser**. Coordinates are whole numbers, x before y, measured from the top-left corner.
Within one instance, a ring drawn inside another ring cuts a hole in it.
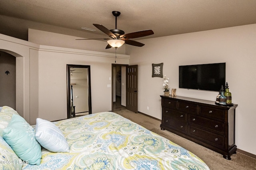
[[[167,130],[160,129],[161,122],[141,113],[134,113],[129,110],[115,111],[119,115],[130,119],[131,121],[142,125],[146,129],[161,135],[170,141],[180,145],[201,158],[210,168],[210,170],[256,170],[256,159],[240,152],[232,154],[231,160],[226,160],[222,154],[202,147],[192,141],[184,139]]]

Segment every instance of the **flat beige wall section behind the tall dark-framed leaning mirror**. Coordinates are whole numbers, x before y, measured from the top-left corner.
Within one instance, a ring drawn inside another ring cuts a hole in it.
[[[128,64],[117,54],[116,63]],[[112,63],[115,54],[40,45],[38,56],[38,117],[50,121],[67,118],[66,64],[90,65],[92,113],[110,111]]]

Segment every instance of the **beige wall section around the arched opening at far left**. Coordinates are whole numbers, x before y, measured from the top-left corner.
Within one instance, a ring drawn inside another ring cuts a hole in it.
[[[30,113],[34,113],[35,116],[38,114],[38,98],[31,95],[38,91],[38,81],[33,80],[37,74],[34,68],[37,66],[35,50],[38,50],[38,47],[37,44],[0,34],[0,51],[16,57],[16,110],[28,122],[31,118]]]

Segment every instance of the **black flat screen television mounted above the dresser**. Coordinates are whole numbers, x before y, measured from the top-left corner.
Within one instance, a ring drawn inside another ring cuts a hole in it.
[[[226,63],[179,66],[179,88],[220,91],[226,84]]]

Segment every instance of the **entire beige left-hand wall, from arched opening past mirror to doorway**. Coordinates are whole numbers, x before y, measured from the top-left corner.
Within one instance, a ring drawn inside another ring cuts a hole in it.
[[[63,39],[59,39],[64,41]],[[92,113],[111,110],[114,53],[37,45],[0,34],[0,51],[16,57],[16,110],[30,124],[67,117],[66,64],[91,66]],[[117,64],[130,56],[117,54]]]

